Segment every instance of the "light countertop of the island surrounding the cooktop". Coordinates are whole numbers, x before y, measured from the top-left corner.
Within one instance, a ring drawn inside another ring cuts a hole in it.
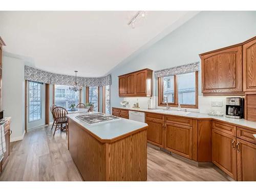
[[[89,113],[98,113],[98,112],[89,112]],[[84,113],[83,113],[84,114]],[[99,124],[87,124],[76,118],[76,116],[81,115],[79,113],[75,114],[68,114],[67,117],[78,123],[79,125],[83,126],[84,129],[87,129],[100,139],[104,140],[111,140],[116,137],[129,134],[131,132],[135,132],[143,127],[147,126],[146,123],[133,121],[130,119],[120,118],[117,120],[106,121]]]

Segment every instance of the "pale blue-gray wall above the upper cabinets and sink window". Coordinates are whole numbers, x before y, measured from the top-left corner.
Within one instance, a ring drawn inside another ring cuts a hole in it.
[[[127,58],[111,71],[111,106],[119,106],[122,100],[118,96],[118,75],[143,68],[155,71],[200,61],[200,53],[238,44],[253,36],[256,36],[256,11],[200,12],[150,48]],[[153,95],[157,95],[155,78],[153,83]]]

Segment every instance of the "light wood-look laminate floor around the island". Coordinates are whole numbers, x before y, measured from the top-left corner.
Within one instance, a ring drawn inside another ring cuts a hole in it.
[[[196,167],[147,147],[148,181],[228,181],[216,166]],[[65,132],[53,137],[51,126],[28,132],[11,143],[9,161],[0,181],[82,181],[67,147]]]

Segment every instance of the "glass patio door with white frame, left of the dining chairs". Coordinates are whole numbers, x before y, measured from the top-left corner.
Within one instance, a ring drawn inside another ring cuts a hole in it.
[[[46,123],[46,85],[27,81],[27,130]]]

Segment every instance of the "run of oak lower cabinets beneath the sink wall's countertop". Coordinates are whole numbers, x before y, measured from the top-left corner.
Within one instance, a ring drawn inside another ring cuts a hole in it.
[[[255,130],[211,119],[155,113],[145,117],[148,143],[198,162],[212,162],[234,180],[256,181]]]

